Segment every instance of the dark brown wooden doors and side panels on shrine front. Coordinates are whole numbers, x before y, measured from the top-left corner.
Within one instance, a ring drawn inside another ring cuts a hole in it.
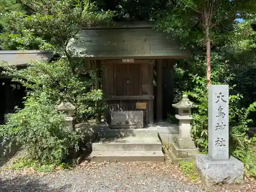
[[[153,96],[153,64],[146,61],[139,63],[112,61],[103,65],[104,95],[110,98]]]

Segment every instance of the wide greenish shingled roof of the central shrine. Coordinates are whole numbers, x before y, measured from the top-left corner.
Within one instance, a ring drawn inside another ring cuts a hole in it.
[[[78,57],[154,59],[185,58],[190,55],[187,50],[180,49],[172,35],[154,30],[149,22],[86,28],[76,37],[70,41],[68,49],[80,53]]]

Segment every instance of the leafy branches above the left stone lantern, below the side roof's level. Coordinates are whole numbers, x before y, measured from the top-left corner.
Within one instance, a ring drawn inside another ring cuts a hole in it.
[[[78,121],[87,121],[96,112],[102,113],[102,105],[95,105],[102,101],[102,90],[95,90],[95,76],[92,70],[83,70],[84,60],[74,60],[76,73],[72,72],[70,63],[67,59],[59,59],[54,62],[30,62],[26,69],[17,70],[8,63],[0,65],[5,71],[3,74],[12,75],[13,79],[23,84],[34,96],[39,96],[42,92],[46,93],[49,100],[60,103],[68,101],[74,104]]]

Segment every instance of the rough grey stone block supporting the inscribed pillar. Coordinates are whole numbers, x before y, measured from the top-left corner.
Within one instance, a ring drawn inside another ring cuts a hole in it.
[[[243,183],[244,164],[232,156],[229,160],[214,161],[205,154],[198,154],[196,166],[207,185]]]

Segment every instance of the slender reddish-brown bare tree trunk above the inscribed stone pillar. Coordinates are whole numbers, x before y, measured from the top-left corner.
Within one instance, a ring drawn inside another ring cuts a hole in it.
[[[206,36],[206,79],[207,79],[207,87],[210,86],[210,34],[209,34],[209,25],[205,27],[205,36]]]

